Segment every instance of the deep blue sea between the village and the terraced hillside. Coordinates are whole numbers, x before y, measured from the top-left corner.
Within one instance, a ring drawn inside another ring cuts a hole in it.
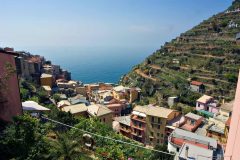
[[[35,49],[32,54],[44,56],[83,83],[117,83],[136,64],[153,53],[152,48],[51,48]]]

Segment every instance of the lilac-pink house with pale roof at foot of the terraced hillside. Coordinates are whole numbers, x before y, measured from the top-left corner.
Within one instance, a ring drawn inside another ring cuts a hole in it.
[[[198,111],[207,111],[210,113],[218,113],[219,105],[216,100],[211,96],[203,95],[196,102],[196,110]]]

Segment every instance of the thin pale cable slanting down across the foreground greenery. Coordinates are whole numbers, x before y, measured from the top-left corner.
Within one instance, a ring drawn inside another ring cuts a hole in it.
[[[63,126],[69,127],[69,128],[73,128],[73,129],[79,130],[79,131],[81,131],[83,133],[87,133],[87,134],[90,134],[90,135],[93,135],[93,136],[96,136],[96,137],[103,138],[103,139],[108,139],[108,140],[112,140],[112,141],[115,141],[115,142],[131,145],[131,146],[134,146],[134,147],[138,147],[138,148],[142,148],[142,149],[146,149],[146,150],[151,150],[151,151],[155,151],[155,152],[159,152],[159,153],[175,156],[175,154],[172,154],[172,153],[163,152],[163,151],[159,151],[159,150],[152,149],[152,148],[146,148],[144,146],[140,146],[140,145],[137,145],[137,144],[134,144],[134,143],[125,142],[125,141],[122,141],[122,140],[118,140],[118,139],[114,139],[114,138],[111,138],[111,137],[106,137],[106,136],[102,136],[102,135],[99,135],[99,134],[96,134],[96,133],[85,131],[83,129],[80,129],[80,128],[77,128],[77,127],[74,127],[74,126],[71,126],[71,125],[68,125],[68,124],[65,124],[65,123],[62,123],[62,122],[50,119],[50,118],[47,118],[45,116],[41,116],[41,118],[46,119],[46,120],[51,121],[51,122],[54,122],[54,123],[58,123],[60,125],[63,125]]]

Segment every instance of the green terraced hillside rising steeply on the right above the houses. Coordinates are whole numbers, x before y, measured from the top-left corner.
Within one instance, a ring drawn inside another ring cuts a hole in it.
[[[138,86],[152,102],[179,96],[193,105],[201,94],[191,92],[191,80],[203,82],[205,94],[217,99],[234,97],[240,67],[240,0],[224,12],[165,43],[126,74],[121,83]]]

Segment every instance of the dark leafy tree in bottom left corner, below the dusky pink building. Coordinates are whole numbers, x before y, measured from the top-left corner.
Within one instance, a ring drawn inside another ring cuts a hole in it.
[[[28,114],[14,118],[0,138],[0,159],[47,159],[47,127]]]

